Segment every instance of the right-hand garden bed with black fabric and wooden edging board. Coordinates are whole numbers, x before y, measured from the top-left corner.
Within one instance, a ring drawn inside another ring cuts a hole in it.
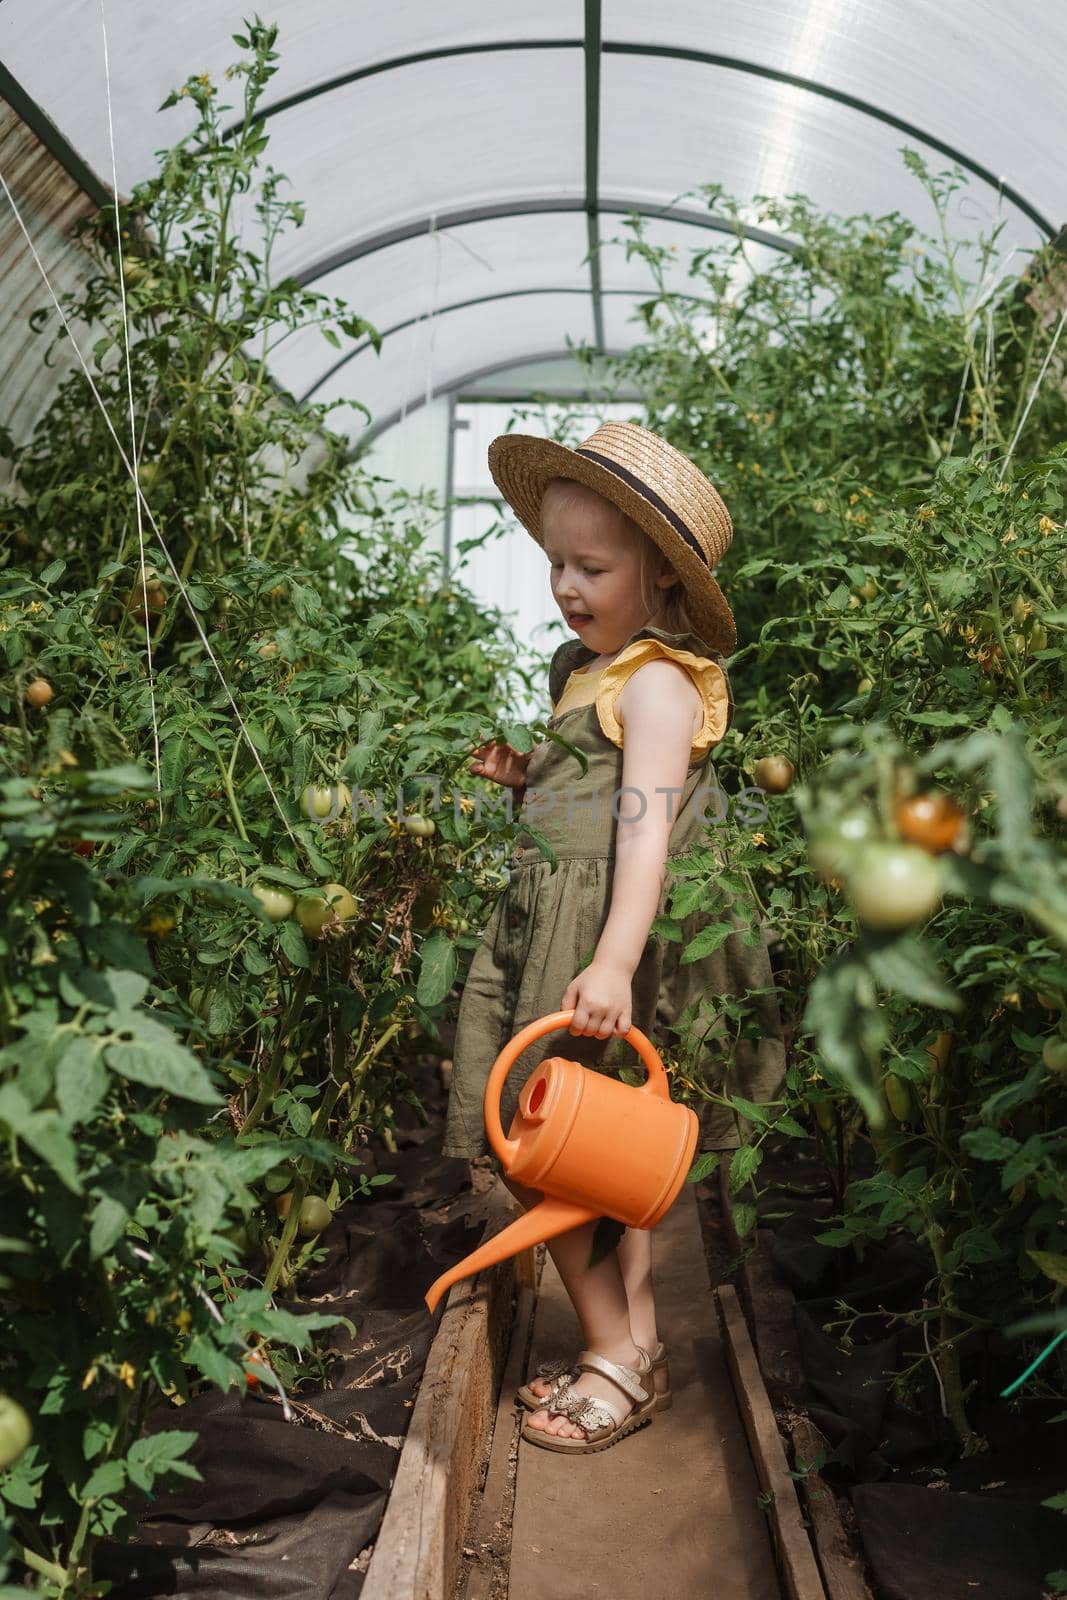
[[[990,1338],[963,1355],[965,1382],[976,1386],[969,1414],[987,1445],[963,1456],[933,1362],[904,1394],[893,1386],[894,1371],[926,1354],[921,1330],[902,1317],[921,1309],[933,1261],[894,1234],[862,1262],[821,1245],[830,1198],[814,1141],[771,1134],[765,1152],[758,1197],[731,1197],[725,1181],[718,1192],[702,1186],[705,1222],[718,1206],[729,1219],[737,1200],[758,1213],[753,1235],[734,1234],[733,1261],[718,1246],[710,1266],[737,1274],[793,1470],[824,1453],[803,1490],[830,1600],[1040,1600],[1045,1573],[1062,1565],[1062,1522],[1041,1506],[1061,1488],[1056,1435],[1043,1424],[1062,1403],[998,1398],[1021,1357]],[[824,1325],[856,1312],[843,1347]]]

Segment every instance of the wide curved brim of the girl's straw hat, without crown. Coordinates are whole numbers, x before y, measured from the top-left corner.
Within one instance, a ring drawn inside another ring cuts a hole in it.
[[[555,438],[539,438],[536,434],[501,434],[490,445],[488,459],[493,482],[542,549],[541,499],[549,478],[574,478],[603,494],[669,558],[683,582],[686,603],[701,638],[723,656],[734,650],[737,627],[726,597],[707,565],[640,490],[617,478],[598,461],[579,456],[568,445]]]

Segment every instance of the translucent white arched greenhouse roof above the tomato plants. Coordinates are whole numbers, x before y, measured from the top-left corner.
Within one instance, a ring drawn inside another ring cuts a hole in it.
[[[190,107],[158,114],[186,77],[206,72],[240,102],[240,80],[222,72],[253,8],[104,8],[128,192],[192,126]],[[568,334],[606,347],[640,338],[630,312],[651,288],[646,264],[616,243],[582,266],[590,237],[627,237],[619,208],[661,213],[646,230],[677,245],[667,286],[678,293],[701,293],[689,254],[715,242],[693,226],[704,203],[681,200],[707,182],[752,227],[763,190],[837,213],[901,210],[931,230],[899,154],[910,144],[934,171],[958,162],[971,174],[952,200],[958,238],[1005,219],[1005,274],[1067,213],[1067,8],[1048,0],[280,0],[267,14],[278,22],[267,160],[306,205],[275,274],[322,280],[387,333],[381,357],[365,350],[336,371],[347,350],[296,336],[277,376],[298,394],[349,384],[379,418],[418,403],[427,363],[442,389],[509,355],[563,350]],[[56,125],[59,157],[66,141],[107,181],[99,0],[3,0],[0,64]],[[662,216],[672,205],[689,222]],[[774,251],[753,238],[747,258],[736,283]]]

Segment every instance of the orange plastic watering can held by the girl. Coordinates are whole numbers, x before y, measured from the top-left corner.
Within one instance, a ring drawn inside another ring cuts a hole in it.
[[[592,1072],[579,1061],[550,1056],[525,1083],[504,1138],[501,1090],[512,1064],[528,1045],[565,1027],[573,1016],[574,1011],[552,1011],[515,1034],[493,1062],[485,1086],[485,1130],[504,1173],[542,1190],[544,1200],[443,1272],[426,1294],[430,1310],[461,1278],[582,1222],[609,1216],[627,1227],[656,1227],[686,1179],[696,1149],[696,1115],[670,1099],[664,1064],[637,1027],[622,1037],[648,1067],[640,1088]]]

